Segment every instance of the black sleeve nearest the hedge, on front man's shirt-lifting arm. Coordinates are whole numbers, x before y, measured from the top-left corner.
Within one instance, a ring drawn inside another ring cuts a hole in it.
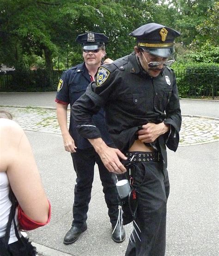
[[[166,145],[170,150],[176,151],[179,144],[179,131],[182,124],[182,116],[175,75],[172,94],[166,107],[166,119],[164,120],[164,124],[170,125],[170,132],[166,135]]]

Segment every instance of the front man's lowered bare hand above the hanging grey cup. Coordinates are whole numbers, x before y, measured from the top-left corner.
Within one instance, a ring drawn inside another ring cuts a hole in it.
[[[127,160],[127,157],[118,149],[110,148],[101,138],[88,139],[93,145],[97,154],[100,156],[104,166],[108,171],[116,174],[126,172],[126,168],[122,165],[119,158]]]

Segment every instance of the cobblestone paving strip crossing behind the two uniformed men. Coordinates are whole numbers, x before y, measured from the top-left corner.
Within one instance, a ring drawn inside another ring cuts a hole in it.
[[[1,109],[12,113],[24,130],[61,134],[55,109],[7,106]],[[68,116],[70,110],[68,110]],[[69,120],[69,118],[68,118]],[[205,144],[219,140],[219,119],[183,116],[180,146]]]

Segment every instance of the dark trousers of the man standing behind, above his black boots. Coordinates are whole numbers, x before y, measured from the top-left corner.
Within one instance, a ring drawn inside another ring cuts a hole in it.
[[[115,175],[105,168],[103,162],[93,148],[84,150],[77,149],[77,152],[71,153],[71,156],[73,159],[74,170],[77,174],[76,185],[74,187],[72,225],[80,227],[84,225],[87,220],[95,163],[98,165],[110,222],[112,225],[116,225],[118,218],[118,193],[116,189]]]

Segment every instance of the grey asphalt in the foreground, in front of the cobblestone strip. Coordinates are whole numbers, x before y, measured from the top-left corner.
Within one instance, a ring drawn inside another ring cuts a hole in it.
[[[31,231],[30,238],[73,256],[122,256],[127,240],[112,241],[98,172],[92,189],[88,230],[71,245],[62,243],[71,226],[75,173],[71,157],[55,134],[26,132],[33,145],[43,185],[52,204],[51,223]],[[218,143],[169,151],[170,197],[166,256],[218,255]],[[126,226],[128,235],[131,225]],[[58,254],[59,255],[59,254]],[[53,255],[49,255],[53,256]]]

